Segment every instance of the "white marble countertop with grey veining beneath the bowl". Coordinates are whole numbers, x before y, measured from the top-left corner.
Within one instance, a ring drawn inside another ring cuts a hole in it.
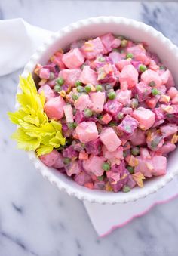
[[[0,0],[0,19],[23,17],[44,29],[98,15],[142,20],[178,44],[178,4],[112,1]],[[17,60],[14,60],[17,61]],[[178,254],[178,199],[100,239],[82,202],[43,180],[9,137],[18,74],[0,78],[0,256],[118,256]]]

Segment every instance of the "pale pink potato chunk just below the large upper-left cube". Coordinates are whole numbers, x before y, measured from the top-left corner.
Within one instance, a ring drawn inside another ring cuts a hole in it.
[[[75,85],[75,82],[81,75],[81,69],[63,69],[59,73],[59,77],[62,77],[66,84]]]

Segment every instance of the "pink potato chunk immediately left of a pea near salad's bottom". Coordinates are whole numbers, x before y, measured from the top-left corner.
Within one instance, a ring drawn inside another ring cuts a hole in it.
[[[97,177],[102,176],[104,170],[102,168],[105,159],[102,156],[91,155],[89,159],[83,161],[84,170],[88,174],[94,174]]]

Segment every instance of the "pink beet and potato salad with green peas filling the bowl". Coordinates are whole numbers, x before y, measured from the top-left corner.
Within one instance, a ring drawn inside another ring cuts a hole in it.
[[[38,64],[44,113],[66,143],[40,156],[89,189],[128,192],[167,172],[178,141],[178,91],[146,44],[111,33]]]

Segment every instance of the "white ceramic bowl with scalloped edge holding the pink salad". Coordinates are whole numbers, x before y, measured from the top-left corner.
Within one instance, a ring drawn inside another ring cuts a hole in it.
[[[59,48],[67,48],[69,44],[76,39],[89,39],[103,35],[106,32],[124,35],[133,41],[146,42],[149,45],[149,50],[158,54],[162,63],[171,70],[178,84],[178,48],[176,48],[176,45],[173,45],[161,32],[156,31],[151,26],[122,17],[94,17],[87,20],[79,20],[76,23],[66,26],[59,32],[54,33],[48,41],[44,42],[44,45],[38,48],[38,51],[32,55],[29,63],[25,66],[23,76],[27,76],[28,72],[33,72],[36,63],[46,63],[49,57]],[[115,204],[117,202],[124,203],[143,198],[151,193],[155,193],[170,182],[170,180],[178,174],[177,150],[178,149],[169,156],[166,175],[152,178],[145,182],[143,188],[135,187],[130,193],[89,190],[86,187],[79,186],[75,181],[64,174],[60,174],[54,168],[45,166],[35,156],[34,152],[29,153],[29,158],[43,177],[46,177],[51,184],[55,184],[60,190],[66,191],[69,195],[89,202]]]

